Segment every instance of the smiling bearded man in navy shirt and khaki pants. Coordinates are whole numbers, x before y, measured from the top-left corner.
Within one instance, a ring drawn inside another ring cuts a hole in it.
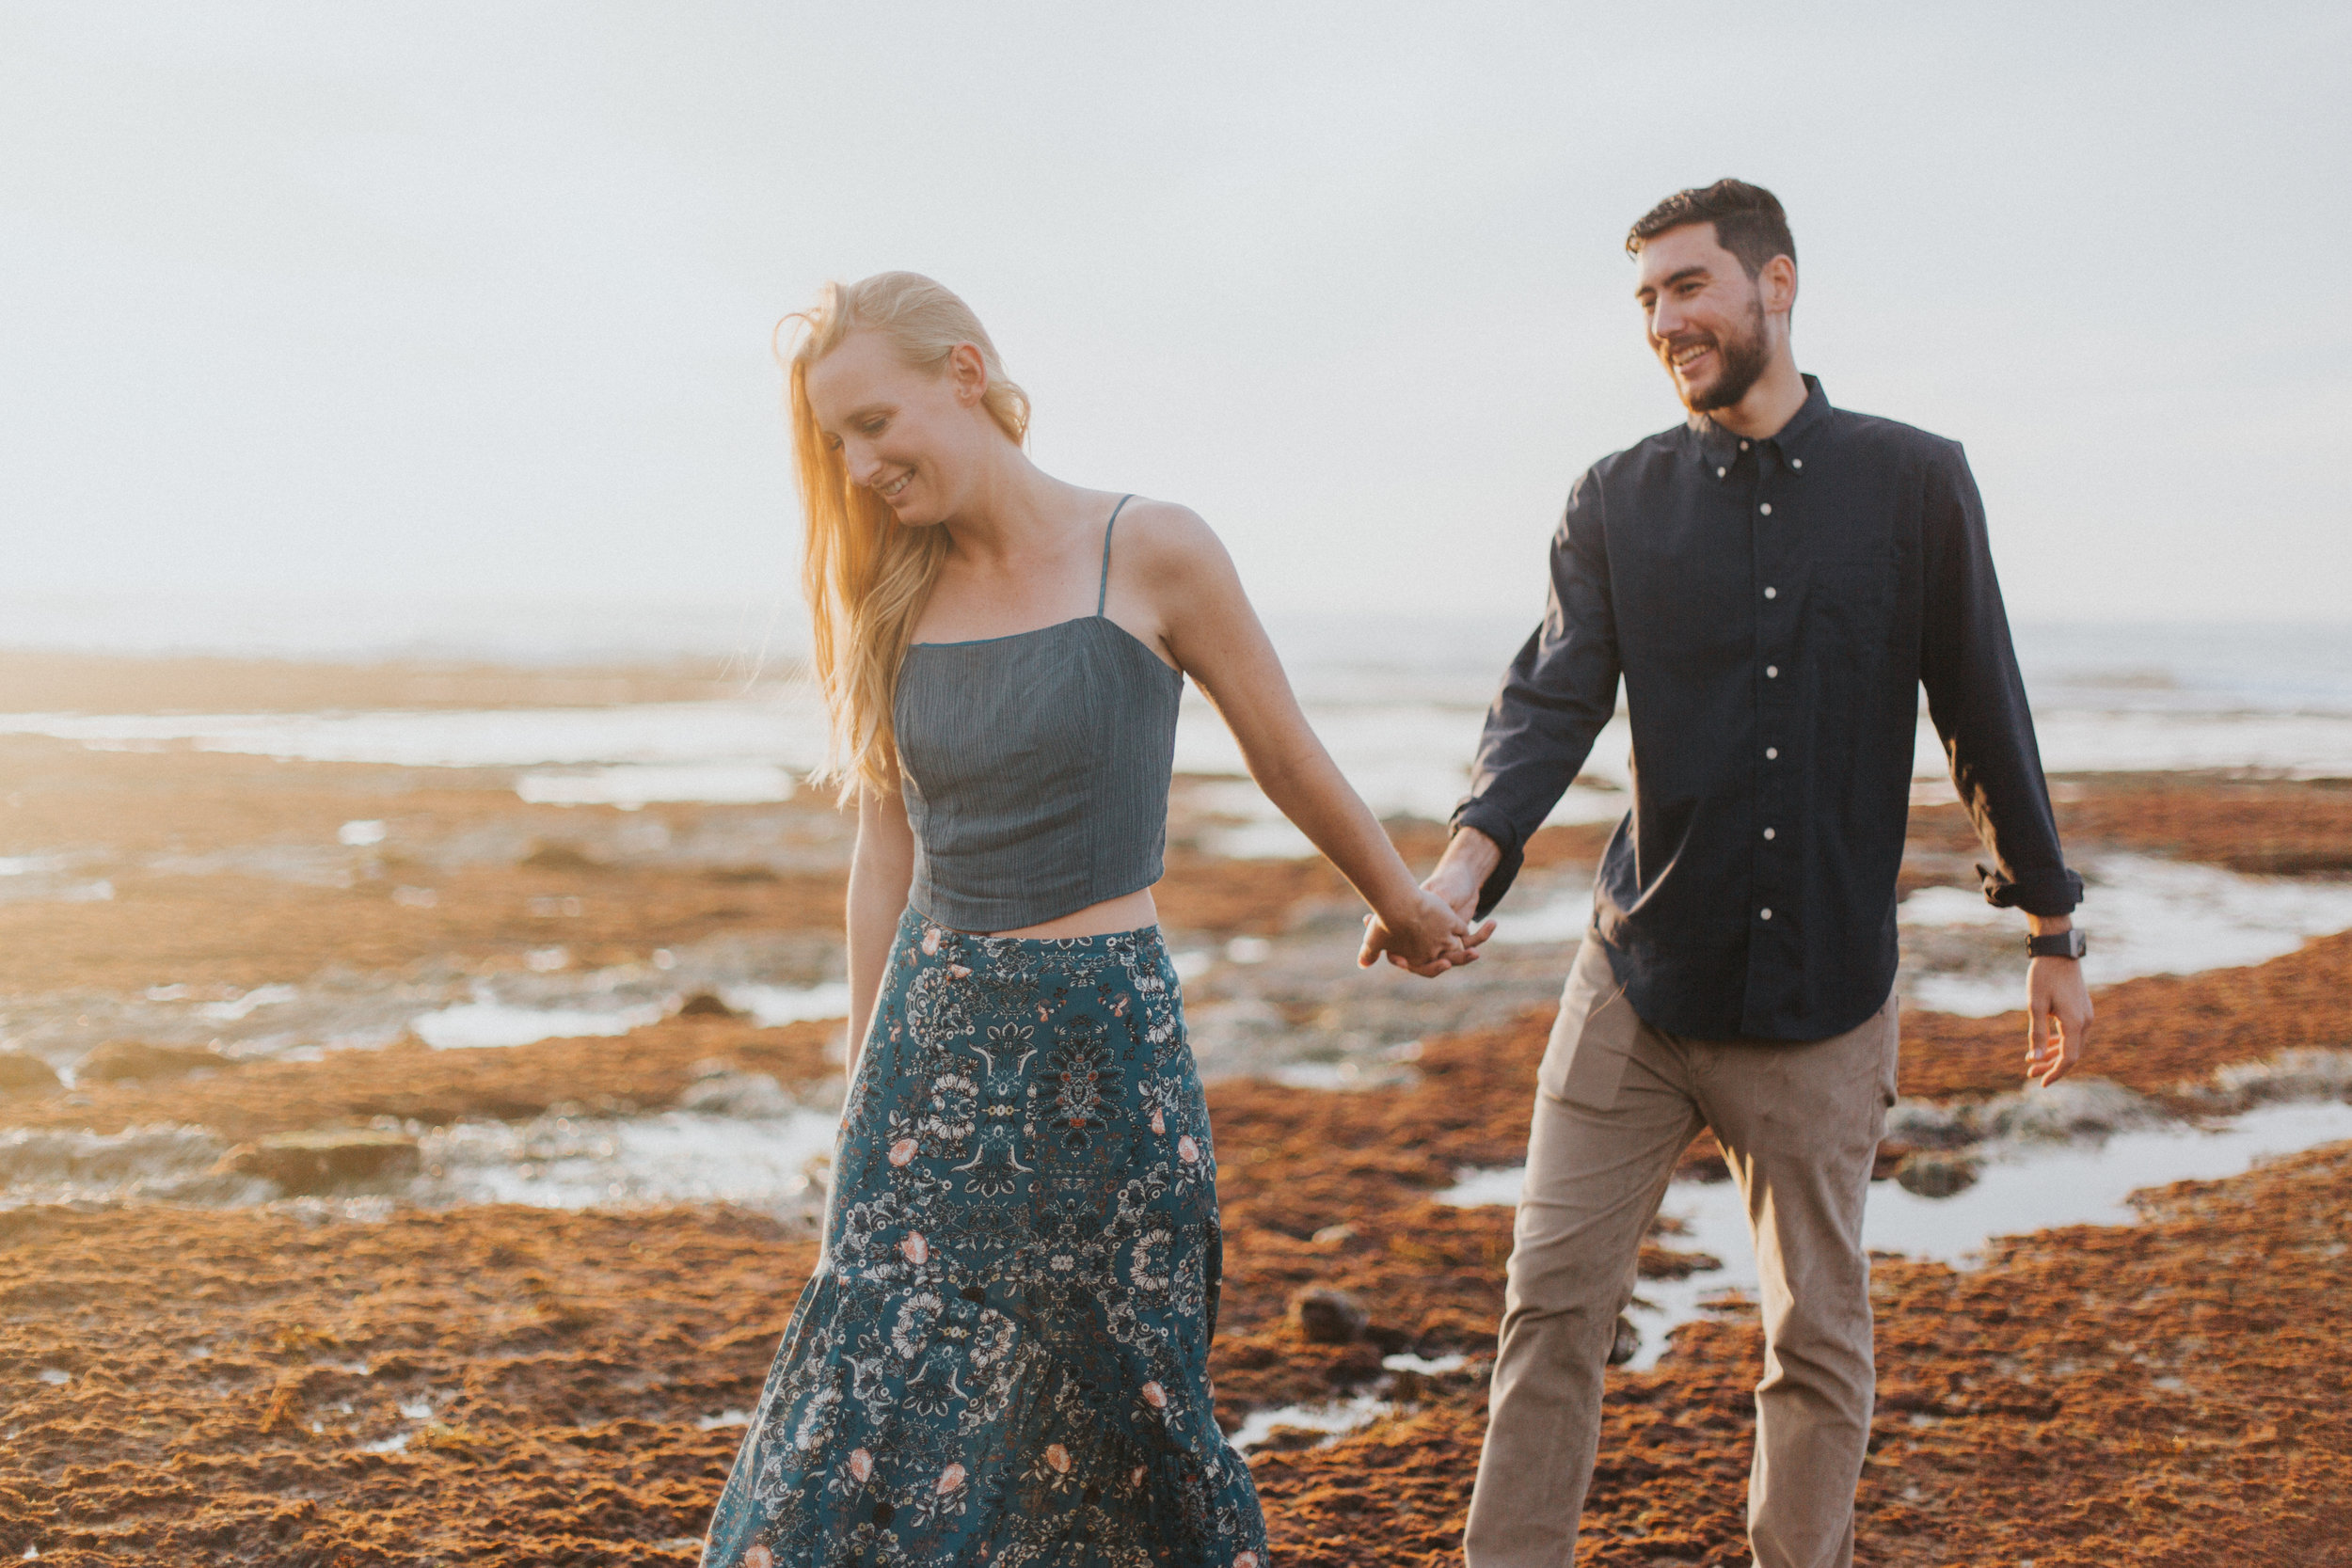
[[[1689,409],[1602,458],[1552,536],[1552,592],[1486,712],[1428,886],[1482,917],[1625,682],[1635,804],[1538,1070],[1470,1568],[1562,1568],[1642,1232],[1708,1126],[1762,1267],[1748,1533],[1759,1568],[1853,1559],[1870,1436],[1863,1197],[1896,1095],[1896,867],[1919,686],[2025,912],[2027,1072],[2091,1023],[1985,517],[1955,442],[1849,414],[1797,374],[1797,247],[1743,181],[1632,226],[1649,346]]]

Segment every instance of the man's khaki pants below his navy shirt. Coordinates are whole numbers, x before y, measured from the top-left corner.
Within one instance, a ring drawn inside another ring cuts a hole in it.
[[[1891,999],[1832,1039],[1675,1039],[1635,1016],[1609,954],[1585,938],[1536,1074],[1468,1568],[1576,1561],[1616,1319],[1642,1232],[1700,1126],[1740,1182],[1764,1286],[1755,1563],[1853,1561],[1872,1399],[1863,1197],[1893,1093]]]

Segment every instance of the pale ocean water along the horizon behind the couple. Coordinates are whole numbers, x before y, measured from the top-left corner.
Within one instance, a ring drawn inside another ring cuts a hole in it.
[[[153,609],[153,607],[146,607]],[[397,611],[397,614],[395,614]],[[743,672],[790,668],[797,618],[779,604],[301,607],[275,618],[226,607],[136,616],[122,604],[0,599],[0,646],[240,651],[306,658],[508,658],[564,663],[722,654]],[[1317,733],[1383,813],[1444,818],[1468,783],[1484,705],[1526,635],[1519,618],[1270,616]],[[2032,625],[2016,632],[2044,764],[2065,771],[2258,769],[2352,778],[2352,625]],[[783,799],[823,759],[804,684],[710,703],[499,712],[0,715],[0,731],[96,748],[195,745],[334,762],[522,769],[517,792],[553,804]],[[1552,820],[1625,809],[1628,731],[1609,724]],[[1190,693],[1176,766],[1244,778],[1223,722]],[[1943,755],[1922,719],[1917,776],[1936,797]],[[1228,853],[1291,856],[1305,842],[1254,788],[1230,792]]]

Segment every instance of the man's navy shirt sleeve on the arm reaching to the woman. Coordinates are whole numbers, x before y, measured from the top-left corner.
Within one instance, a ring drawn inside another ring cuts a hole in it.
[[[1477,827],[1503,851],[1479,889],[1484,919],[1526,860],[1526,839],[1559,804],[1616,712],[1618,642],[1609,604],[1609,543],[1599,477],[1585,473],[1552,534],[1552,581],[1543,623],[1503,675],[1486,708],[1456,827]]]

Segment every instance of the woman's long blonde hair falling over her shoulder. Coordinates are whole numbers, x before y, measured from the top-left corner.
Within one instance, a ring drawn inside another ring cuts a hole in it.
[[[804,329],[788,360],[793,458],[807,517],[800,590],[809,599],[816,684],[833,719],[818,778],[837,780],[840,799],[849,802],[861,785],[880,792],[898,788],[891,698],[915,618],[948,555],[948,534],[903,527],[882,496],[849,477],[849,463],[809,409],[809,367],[851,331],[880,334],[903,364],[934,374],[946,369],[960,343],[971,343],[988,369],[981,404],[1016,444],[1028,440],[1030,404],[1028,393],[1004,376],[997,346],[971,306],[920,273],[828,282],[811,310],[786,322]]]

